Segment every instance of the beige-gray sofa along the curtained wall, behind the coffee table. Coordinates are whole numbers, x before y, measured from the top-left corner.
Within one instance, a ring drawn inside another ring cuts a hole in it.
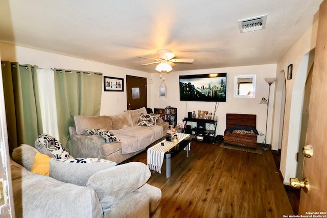
[[[121,163],[144,151],[152,142],[167,134],[169,124],[157,117],[155,124],[151,125],[148,122],[151,117],[142,114],[147,114],[145,107],[110,116],[75,115],[75,126],[69,127],[70,153],[76,158],[97,157]],[[138,125],[140,120],[143,126]],[[118,140],[105,141],[102,136],[89,135],[85,131],[95,133],[96,129],[108,130]]]

